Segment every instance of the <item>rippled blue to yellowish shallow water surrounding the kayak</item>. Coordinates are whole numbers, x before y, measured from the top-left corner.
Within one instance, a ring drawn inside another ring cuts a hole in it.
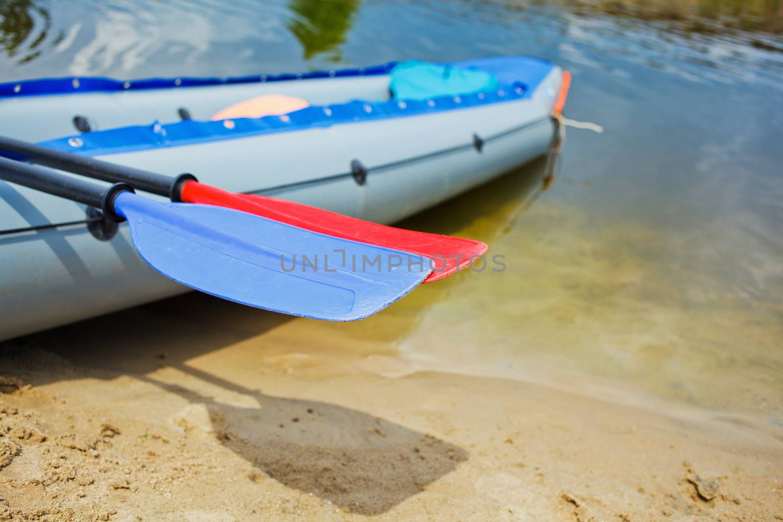
[[[12,0],[0,17],[0,81],[560,64],[574,76],[566,116],[606,130],[568,131],[554,185],[540,192],[539,161],[405,224],[482,239],[507,270],[424,286],[365,322],[295,319],[288,340],[399,351],[423,369],[563,371],[783,424],[774,2]]]

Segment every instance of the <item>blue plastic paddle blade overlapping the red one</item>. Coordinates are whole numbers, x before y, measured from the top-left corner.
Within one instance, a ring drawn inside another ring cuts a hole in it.
[[[364,319],[431,272],[427,258],[224,207],[157,203],[129,192],[114,206],[128,219],[136,250],[158,272],[256,308],[328,321]]]

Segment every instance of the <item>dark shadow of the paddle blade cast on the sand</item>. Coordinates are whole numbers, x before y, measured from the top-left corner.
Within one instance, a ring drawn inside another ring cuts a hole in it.
[[[196,369],[178,369],[258,401],[258,408],[226,405],[156,382],[203,404],[223,445],[288,488],[352,513],[385,513],[468,458],[463,448],[365,412],[272,398]]]

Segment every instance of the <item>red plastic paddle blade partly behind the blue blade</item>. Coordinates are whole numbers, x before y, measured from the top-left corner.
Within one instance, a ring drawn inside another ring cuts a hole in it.
[[[182,201],[233,208],[312,232],[420,254],[431,259],[434,265],[424,283],[432,283],[467,268],[472,257],[487,250],[486,243],[473,239],[397,229],[293,201],[230,193],[199,182],[187,182],[182,187]]]

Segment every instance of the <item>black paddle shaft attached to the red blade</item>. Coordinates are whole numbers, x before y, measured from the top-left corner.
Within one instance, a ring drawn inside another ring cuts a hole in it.
[[[0,154],[88,178],[101,179],[104,182],[125,182],[139,190],[168,196],[171,201],[182,201],[182,185],[189,181],[198,181],[192,174],[181,174],[172,178],[139,168],[124,167],[79,154],[49,149],[18,139],[5,138],[5,136],[0,136]]]

